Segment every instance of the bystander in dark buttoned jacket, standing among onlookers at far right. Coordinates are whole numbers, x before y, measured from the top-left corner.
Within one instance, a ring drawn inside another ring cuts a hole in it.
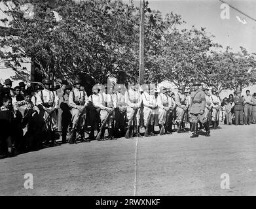
[[[240,91],[234,91],[234,115],[236,120],[236,125],[244,125],[244,99],[241,97]]]

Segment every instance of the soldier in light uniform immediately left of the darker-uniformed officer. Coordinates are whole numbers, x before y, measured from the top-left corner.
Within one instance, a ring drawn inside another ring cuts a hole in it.
[[[187,111],[189,107],[184,91],[185,91],[185,88],[183,86],[179,86],[178,93],[175,95],[175,103],[177,106],[177,109],[176,109],[177,127],[179,127],[179,124],[181,123],[181,127],[183,130],[185,129],[185,122],[184,122],[186,117],[185,111]],[[183,118],[183,114],[185,114],[184,118]],[[181,121],[182,118],[183,118],[183,121]]]

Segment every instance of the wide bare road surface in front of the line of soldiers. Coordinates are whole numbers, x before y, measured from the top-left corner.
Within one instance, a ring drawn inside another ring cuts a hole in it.
[[[256,195],[256,125],[47,148],[0,160],[0,195]],[[137,161],[137,166],[136,166]],[[24,174],[33,189],[24,189]],[[230,189],[221,189],[221,174]]]

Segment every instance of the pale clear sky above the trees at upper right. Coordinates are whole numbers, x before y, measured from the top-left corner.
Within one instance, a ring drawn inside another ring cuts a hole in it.
[[[127,0],[128,1],[128,0]],[[256,0],[225,0],[233,7],[256,19]],[[139,1],[134,1],[139,7]],[[232,51],[240,51],[243,46],[249,53],[256,52],[256,21],[244,14],[229,8],[229,19],[221,18],[221,1],[219,0],[149,0],[151,9],[162,14],[174,12],[185,20],[186,27],[206,27],[206,31],[214,35],[213,40],[223,47],[230,46]],[[246,20],[247,24],[238,22],[236,16]]]

